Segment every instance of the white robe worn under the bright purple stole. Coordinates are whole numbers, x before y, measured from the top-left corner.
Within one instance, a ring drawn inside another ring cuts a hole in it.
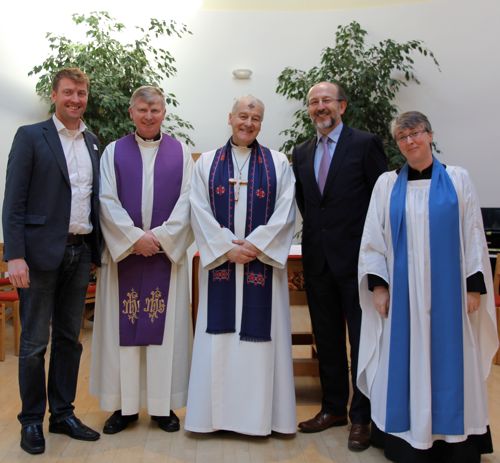
[[[187,398],[192,332],[186,249],[193,240],[189,223],[193,161],[183,145],[179,199],[168,220],[152,229],[172,263],[163,344],[120,347],[117,263],[131,253],[134,243],[149,230],[154,161],[160,143],[138,137],[136,140],[143,162],[144,230],[134,226],[118,199],[115,142],[107,146],[101,158],[101,227],[106,246],[97,279],[90,391],[99,396],[104,410],[121,409],[124,415],[131,415],[146,407],[150,415],[168,416],[170,409],[183,407]]]

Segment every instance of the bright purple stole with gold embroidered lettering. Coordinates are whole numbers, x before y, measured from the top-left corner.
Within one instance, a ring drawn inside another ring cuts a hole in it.
[[[115,146],[118,198],[134,225],[143,228],[142,158],[135,135]],[[183,176],[181,144],[162,134],[154,165],[151,228],[165,222],[179,199]],[[130,254],[118,263],[120,346],[161,345],[165,331],[172,265],[164,253]]]

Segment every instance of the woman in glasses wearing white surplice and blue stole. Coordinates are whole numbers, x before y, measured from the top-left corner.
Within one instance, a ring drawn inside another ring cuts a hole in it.
[[[407,164],[379,177],[359,256],[372,443],[398,462],[479,462],[498,340],[478,200],[464,169],[433,157],[423,114],[401,114],[392,134]]]

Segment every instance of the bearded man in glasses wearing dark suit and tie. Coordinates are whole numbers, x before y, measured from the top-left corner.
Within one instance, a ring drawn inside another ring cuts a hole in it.
[[[318,135],[296,146],[292,160],[323,397],[319,413],[299,423],[299,429],[319,432],[347,424],[347,324],[353,385],[348,447],[364,450],[370,441],[370,403],[356,387],[361,328],[358,253],[372,188],[387,170],[387,161],[378,137],[343,125],[347,97],[338,84],[314,85],[307,104]]]

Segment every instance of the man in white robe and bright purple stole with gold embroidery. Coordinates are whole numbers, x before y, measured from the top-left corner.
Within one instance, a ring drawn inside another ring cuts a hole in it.
[[[179,429],[191,352],[186,250],[191,155],[161,132],[165,97],[138,88],[129,113],[136,131],[101,159],[101,224],[106,247],[93,332],[91,392],[113,414],[115,434],[146,408],[167,432]]]

